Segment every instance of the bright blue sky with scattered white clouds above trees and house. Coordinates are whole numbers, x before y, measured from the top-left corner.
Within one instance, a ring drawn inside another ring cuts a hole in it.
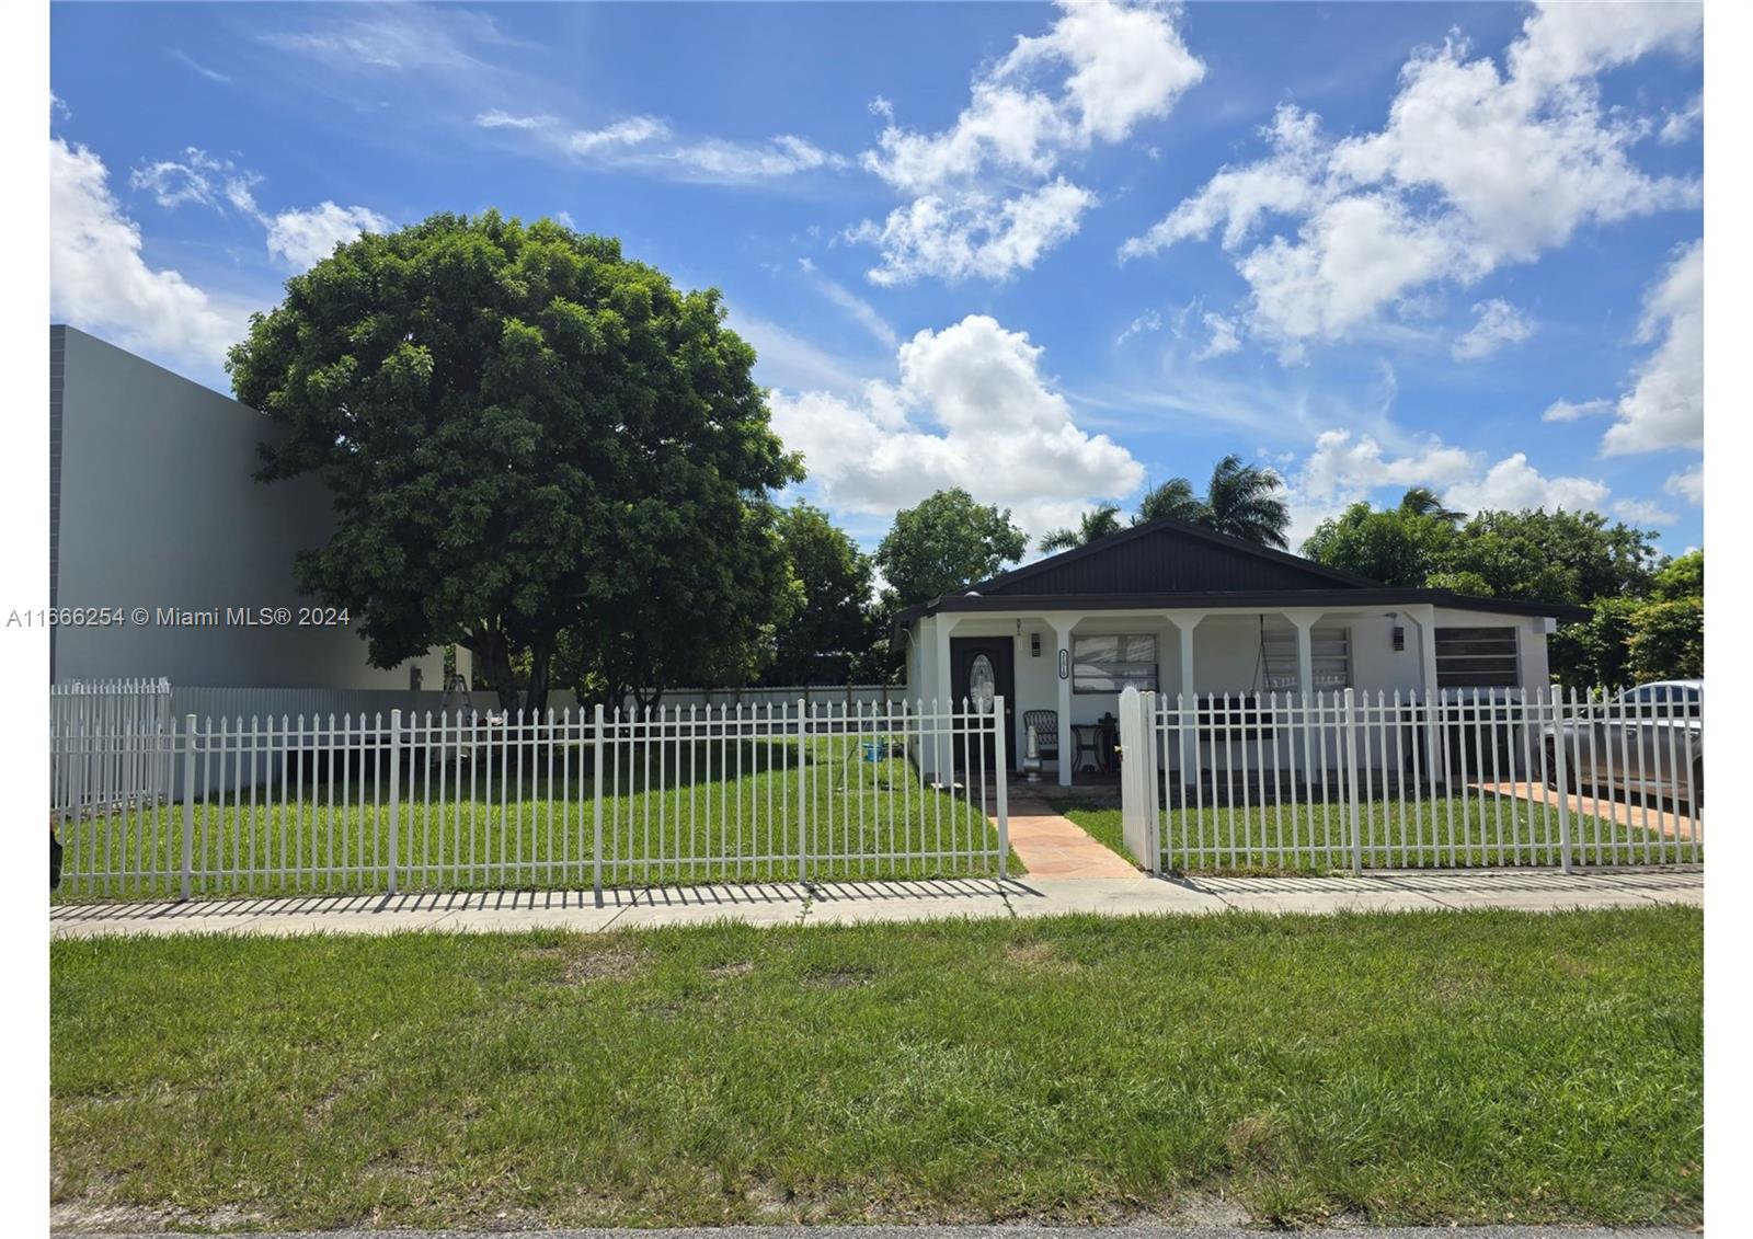
[[[724,291],[803,492],[1041,533],[1225,452],[1702,545],[1692,5],[72,5],[53,307],[216,387],[361,228]]]

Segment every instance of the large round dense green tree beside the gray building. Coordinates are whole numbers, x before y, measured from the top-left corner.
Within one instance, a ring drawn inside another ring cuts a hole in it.
[[[259,477],[333,492],[300,587],[345,605],[379,666],[463,643],[507,708],[524,654],[524,706],[545,703],[566,631],[608,648],[685,606],[694,636],[749,648],[789,605],[766,494],[799,468],[752,366],[717,291],[491,210],[340,245],[226,363],[284,428]]]

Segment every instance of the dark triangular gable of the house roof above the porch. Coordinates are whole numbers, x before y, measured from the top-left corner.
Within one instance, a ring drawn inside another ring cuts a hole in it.
[[[1378,582],[1311,559],[1160,517],[1048,556],[964,592],[1199,594],[1266,589],[1376,589]]]

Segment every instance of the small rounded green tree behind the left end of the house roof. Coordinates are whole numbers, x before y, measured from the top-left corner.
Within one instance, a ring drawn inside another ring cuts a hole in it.
[[[1011,524],[1010,508],[975,503],[955,487],[896,512],[873,561],[901,608],[985,580],[1027,549],[1029,538]]]

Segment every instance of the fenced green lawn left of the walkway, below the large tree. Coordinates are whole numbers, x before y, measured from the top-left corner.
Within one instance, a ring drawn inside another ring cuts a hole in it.
[[[978,808],[982,794],[987,803],[996,796],[990,787],[982,789],[976,776],[971,801],[936,790],[905,757],[862,761],[862,740],[869,736],[810,741],[803,829],[812,881],[997,871],[997,832]],[[521,769],[482,762],[459,775],[456,766],[440,771],[410,762],[400,787],[400,887],[589,887],[591,771],[589,745],[557,750],[552,764],[545,754],[528,757]],[[195,894],[382,890],[387,766],[380,780],[361,780],[358,769],[330,778],[319,764],[295,771],[289,789],[282,782],[228,794],[223,804],[217,797],[196,803]],[[605,885],[798,880],[794,743],[670,743],[636,761],[622,750],[621,761],[607,759],[603,785]],[[174,896],[179,889],[181,806],[68,824],[61,838],[61,899]],[[310,873],[342,862],[358,871]],[[1024,871],[1015,855],[1008,864],[1010,873]]]

